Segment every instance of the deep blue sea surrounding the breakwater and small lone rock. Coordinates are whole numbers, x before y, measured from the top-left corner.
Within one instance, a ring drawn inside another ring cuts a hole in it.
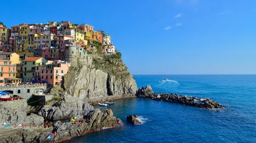
[[[138,87],[154,93],[207,97],[227,106],[188,107],[145,98],[117,100],[110,108],[122,126],[101,129],[65,143],[256,143],[256,75],[134,75]],[[164,78],[169,79],[163,81]],[[121,106],[122,105],[122,106]],[[141,125],[126,122],[136,114]]]

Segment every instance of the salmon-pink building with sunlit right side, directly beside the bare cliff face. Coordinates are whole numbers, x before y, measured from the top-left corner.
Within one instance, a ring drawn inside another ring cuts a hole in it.
[[[70,66],[71,64],[65,61],[48,61],[47,65],[42,68],[41,80],[51,85],[58,85]]]

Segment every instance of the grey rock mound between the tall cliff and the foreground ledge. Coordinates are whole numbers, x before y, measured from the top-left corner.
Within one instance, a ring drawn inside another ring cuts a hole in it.
[[[60,120],[76,118],[81,120],[84,115],[87,115],[93,110],[93,106],[83,102],[79,98],[71,95],[66,95],[62,98],[57,106],[45,105],[38,115],[44,117],[46,120]]]

